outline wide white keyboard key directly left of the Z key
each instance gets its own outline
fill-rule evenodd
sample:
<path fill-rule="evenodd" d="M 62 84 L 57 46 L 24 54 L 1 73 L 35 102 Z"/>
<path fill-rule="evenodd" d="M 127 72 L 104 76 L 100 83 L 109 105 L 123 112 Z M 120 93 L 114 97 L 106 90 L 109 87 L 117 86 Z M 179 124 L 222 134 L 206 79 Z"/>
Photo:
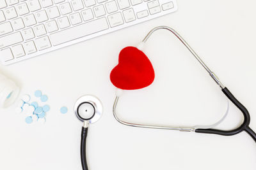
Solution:
<path fill-rule="evenodd" d="M 22 38 L 20 32 L 15 32 L 15 33 L 9 34 L 7 36 L 2 36 L 0 38 L 0 48 L 14 45 L 14 44 L 20 43 L 22 41 L 23 41 L 23 38 Z"/>

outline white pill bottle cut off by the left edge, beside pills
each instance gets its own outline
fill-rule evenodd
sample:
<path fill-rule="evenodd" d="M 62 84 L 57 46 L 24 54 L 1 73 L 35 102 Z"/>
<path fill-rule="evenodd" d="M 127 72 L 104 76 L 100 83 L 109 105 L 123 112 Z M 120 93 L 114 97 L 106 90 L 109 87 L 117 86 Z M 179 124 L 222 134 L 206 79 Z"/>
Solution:
<path fill-rule="evenodd" d="M 19 96 L 20 88 L 14 81 L 0 73 L 0 108 L 12 105 Z"/>

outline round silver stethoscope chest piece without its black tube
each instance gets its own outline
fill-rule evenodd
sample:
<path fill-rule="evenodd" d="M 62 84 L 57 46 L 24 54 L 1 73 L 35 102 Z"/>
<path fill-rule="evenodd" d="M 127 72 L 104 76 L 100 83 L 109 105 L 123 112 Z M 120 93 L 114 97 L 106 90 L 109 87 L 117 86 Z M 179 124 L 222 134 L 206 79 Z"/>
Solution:
<path fill-rule="evenodd" d="M 93 124 L 100 119 L 103 107 L 97 97 L 85 95 L 77 99 L 74 112 L 81 122 L 87 121 L 88 124 Z"/>

